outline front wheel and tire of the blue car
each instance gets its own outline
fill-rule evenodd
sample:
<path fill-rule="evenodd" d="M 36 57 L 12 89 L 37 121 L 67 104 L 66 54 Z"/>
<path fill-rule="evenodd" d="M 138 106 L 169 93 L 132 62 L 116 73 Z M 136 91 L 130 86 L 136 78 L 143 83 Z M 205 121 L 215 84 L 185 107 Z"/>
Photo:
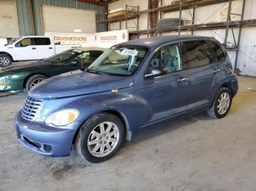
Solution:
<path fill-rule="evenodd" d="M 104 130 L 100 126 L 103 126 Z M 110 133 L 108 133 L 109 127 L 112 127 L 109 129 Z M 111 136 L 111 133 L 114 134 Z M 114 139 L 116 139 L 115 142 L 113 142 Z M 75 139 L 75 149 L 80 157 L 90 163 L 101 163 L 113 157 L 123 142 L 123 122 L 116 115 L 104 112 L 95 114 L 83 123 Z"/>

